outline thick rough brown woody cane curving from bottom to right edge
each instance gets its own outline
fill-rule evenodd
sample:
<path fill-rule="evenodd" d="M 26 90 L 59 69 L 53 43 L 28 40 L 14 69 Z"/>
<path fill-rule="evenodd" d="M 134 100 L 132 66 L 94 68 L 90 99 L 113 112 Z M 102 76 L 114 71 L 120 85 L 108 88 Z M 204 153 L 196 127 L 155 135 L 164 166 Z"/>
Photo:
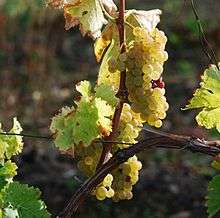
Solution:
<path fill-rule="evenodd" d="M 202 153 L 217 156 L 220 153 L 220 141 L 206 141 L 193 136 L 175 135 L 152 129 L 143 129 L 147 134 L 141 141 L 129 148 L 116 152 L 111 159 L 97 169 L 96 173 L 86 180 L 75 192 L 68 205 L 58 218 L 74 217 L 79 206 L 84 202 L 89 193 L 120 164 L 127 161 L 135 154 L 153 148 L 186 150 L 193 153 Z"/>

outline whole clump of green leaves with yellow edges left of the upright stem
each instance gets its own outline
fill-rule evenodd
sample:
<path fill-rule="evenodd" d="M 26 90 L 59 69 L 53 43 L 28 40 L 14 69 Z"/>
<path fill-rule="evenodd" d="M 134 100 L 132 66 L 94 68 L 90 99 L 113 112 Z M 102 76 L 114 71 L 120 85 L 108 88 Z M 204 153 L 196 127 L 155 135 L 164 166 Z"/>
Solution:
<path fill-rule="evenodd" d="M 114 92 L 106 87 L 109 96 L 101 94 L 94 95 L 91 85 L 82 81 L 77 85 L 77 90 L 82 94 L 79 101 L 75 101 L 75 109 L 63 109 L 55 116 L 51 123 L 51 131 L 55 135 L 55 145 L 62 150 L 73 148 L 74 145 L 83 143 L 89 146 L 91 142 L 111 132 L 111 116 L 113 115 Z M 109 101 L 109 102 L 108 102 Z"/>

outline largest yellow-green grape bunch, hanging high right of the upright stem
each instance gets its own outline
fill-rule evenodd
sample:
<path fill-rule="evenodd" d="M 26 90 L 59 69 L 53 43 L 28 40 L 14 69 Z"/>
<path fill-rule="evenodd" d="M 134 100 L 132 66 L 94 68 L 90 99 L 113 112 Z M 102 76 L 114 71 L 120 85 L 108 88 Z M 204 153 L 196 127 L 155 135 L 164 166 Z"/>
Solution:
<path fill-rule="evenodd" d="M 132 110 L 140 113 L 144 122 L 159 128 L 169 108 L 161 77 L 168 58 L 164 50 L 167 38 L 157 28 L 148 32 L 136 27 L 133 35 L 127 51 L 108 61 L 109 71 L 127 71 L 126 87 Z"/>

